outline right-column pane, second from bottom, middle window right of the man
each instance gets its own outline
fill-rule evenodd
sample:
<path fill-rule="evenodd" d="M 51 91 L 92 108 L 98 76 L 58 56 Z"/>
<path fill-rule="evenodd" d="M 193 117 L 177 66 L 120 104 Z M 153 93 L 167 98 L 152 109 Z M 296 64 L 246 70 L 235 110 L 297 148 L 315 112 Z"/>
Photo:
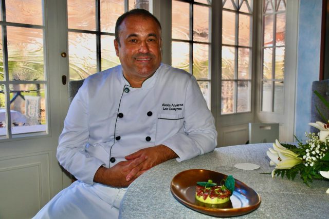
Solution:
<path fill-rule="evenodd" d="M 249 79 L 249 57 L 250 49 L 239 48 L 237 52 L 237 78 L 238 79 Z"/>

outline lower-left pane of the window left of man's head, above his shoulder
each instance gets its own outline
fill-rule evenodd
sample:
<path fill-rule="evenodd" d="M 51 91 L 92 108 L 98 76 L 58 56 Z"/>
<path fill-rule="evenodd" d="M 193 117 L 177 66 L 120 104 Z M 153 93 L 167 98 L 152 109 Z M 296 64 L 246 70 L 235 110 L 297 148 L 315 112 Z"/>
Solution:
<path fill-rule="evenodd" d="M 79 80 L 97 72 L 96 35 L 68 33 L 70 80 Z"/>

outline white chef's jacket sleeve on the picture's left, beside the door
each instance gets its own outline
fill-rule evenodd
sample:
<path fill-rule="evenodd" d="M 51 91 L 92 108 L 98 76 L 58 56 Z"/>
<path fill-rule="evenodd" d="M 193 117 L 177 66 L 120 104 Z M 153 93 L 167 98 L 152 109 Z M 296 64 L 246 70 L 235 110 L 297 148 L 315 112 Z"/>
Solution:
<path fill-rule="evenodd" d="M 67 112 L 59 137 L 57 159 L 78 180 L 92 185 L 94 175 L 103 162 L 85 151 L 89 137 L 87 83 L 85 80 Z"/>

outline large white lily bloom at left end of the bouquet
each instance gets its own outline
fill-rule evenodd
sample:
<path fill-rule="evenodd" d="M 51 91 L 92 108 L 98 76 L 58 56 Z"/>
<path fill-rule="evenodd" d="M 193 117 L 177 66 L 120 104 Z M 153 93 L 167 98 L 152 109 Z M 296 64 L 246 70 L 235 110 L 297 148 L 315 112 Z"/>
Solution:
<path fill-rule="evenodd" d="M 271 160 L 269 165 L 276 165 L 275 169 L 272 171 L 272 177 L 274 177 L 276 169 L 291 169 L 303 162 L 302 158 L 298 157 L 293 151 L 283 147 L 278 140 L 276 140 L 276 143 L 273 143 L 273 149 L 269 148 L 268 151 L 266 151 L 267 156 Z"/>

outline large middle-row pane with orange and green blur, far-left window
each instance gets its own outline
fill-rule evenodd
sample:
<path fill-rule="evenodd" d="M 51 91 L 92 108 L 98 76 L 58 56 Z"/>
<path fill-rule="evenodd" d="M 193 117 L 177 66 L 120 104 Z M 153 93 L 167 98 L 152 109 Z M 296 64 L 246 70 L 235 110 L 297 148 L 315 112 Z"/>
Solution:
<path fill-rule="evenodd" d="M 7 37 L 9 79 L 44 80 L 43 30 L 7 26 Z"/>

